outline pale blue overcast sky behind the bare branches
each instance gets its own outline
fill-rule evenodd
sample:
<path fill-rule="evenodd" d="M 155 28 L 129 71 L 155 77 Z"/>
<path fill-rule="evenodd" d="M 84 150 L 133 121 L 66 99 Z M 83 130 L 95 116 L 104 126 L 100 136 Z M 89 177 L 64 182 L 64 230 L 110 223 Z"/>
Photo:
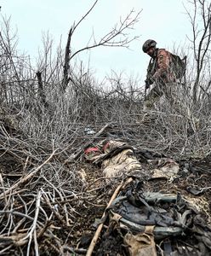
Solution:
<path fill-rule="evenodd" d="M 42 45 L 43 32 L 49 32 L 55 45 L 62 37 L 65 45 L 72 23 L 80 20 L 93 3 L 94 0 L 0 0 L 2 15 L 10 16 L 11 26 L 18 29 L 18 48 L 33 59 Z M 130 50 L 100 47 L 80 55 L 80 59 L 85 63 L 90 59 L 90 67 L 99 79 L 111 74 L 111 70 L 145 79 L 149 56 L 142 52 L 141 47 L 146 39 L 153 38 L 158 47 L 167 49 L 184 45 L 187 41 L 191 26 L 184 4 L 186 1 L 181 0 L 99 0 L 77 28 L 72 46 L 74 49 L 86 46 L 93 31 L 95 38 L 100 38 L 131 9 L 142 10 L 133 31 L 133 35 L 140 38 L 130 44 Z"/>

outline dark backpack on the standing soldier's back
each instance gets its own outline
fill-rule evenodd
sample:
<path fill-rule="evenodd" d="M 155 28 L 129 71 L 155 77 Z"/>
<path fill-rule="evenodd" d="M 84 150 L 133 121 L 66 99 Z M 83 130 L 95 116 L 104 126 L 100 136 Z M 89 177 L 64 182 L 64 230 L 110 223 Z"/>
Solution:
<path fill-rule="evenodd" d="M 181 59 L 180 56 L 171 53 L 171 57 L 172 69 L 176 76 L 176 79 L 182 79 L 185 76 L 187 56 L 185 55 L 185 57 Z"/>

